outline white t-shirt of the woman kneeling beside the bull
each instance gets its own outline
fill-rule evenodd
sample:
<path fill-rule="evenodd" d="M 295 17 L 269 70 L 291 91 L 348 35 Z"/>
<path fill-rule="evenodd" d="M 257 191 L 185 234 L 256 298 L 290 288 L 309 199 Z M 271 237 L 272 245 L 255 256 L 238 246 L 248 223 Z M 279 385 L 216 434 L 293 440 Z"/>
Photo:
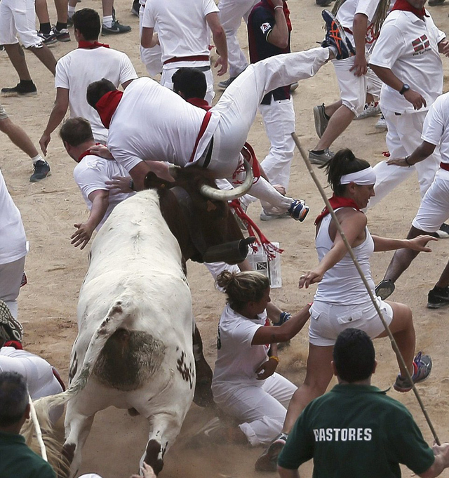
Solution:
<path fill-rule="evenodd" d="M 226 393 L 230 384 L 263 385 L 264 380 L 257 380 L 255 370 L 267 360 L 270 345 L 251 345 L 251 342 L 256 331 L 265 324 L 265 312 L 257 320 L 251 320 L 229 305 L 225 307 L 217 331 L 217 361 L 212 380 L 214 397 Z"/>

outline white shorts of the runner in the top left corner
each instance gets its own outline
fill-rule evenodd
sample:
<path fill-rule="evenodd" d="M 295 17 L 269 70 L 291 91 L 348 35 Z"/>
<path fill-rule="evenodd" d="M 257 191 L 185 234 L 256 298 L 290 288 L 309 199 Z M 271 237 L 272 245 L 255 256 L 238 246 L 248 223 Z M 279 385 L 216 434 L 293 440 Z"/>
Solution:
<path fill-rule="evenodd" d="M 0 45 L 17 44 L 17 35 L 25 48 L 42 46 L 42 39 L 36 32 L 34 0 L 0 2 Z"/>

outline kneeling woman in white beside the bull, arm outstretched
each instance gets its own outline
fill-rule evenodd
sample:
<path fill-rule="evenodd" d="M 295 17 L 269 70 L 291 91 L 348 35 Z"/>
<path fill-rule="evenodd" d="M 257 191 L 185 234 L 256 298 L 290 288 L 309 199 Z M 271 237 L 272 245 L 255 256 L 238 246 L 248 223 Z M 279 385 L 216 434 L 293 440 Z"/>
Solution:
<path fill-rule="evenodd" d="M 225 271 L 217 284 L 225 290 L 227 306 L 218 324 L 214 400 L 241 423 L 237 433 L 241 441 L 267 444 L 281 431 L 286 407 L 297 389 L 276 373 L 277 343 L 302 329 L 309 319 L 309 306 L 283 324 L 270 326 L 265 312 L 270 302 L 267 277 L 259 272 Z"/>

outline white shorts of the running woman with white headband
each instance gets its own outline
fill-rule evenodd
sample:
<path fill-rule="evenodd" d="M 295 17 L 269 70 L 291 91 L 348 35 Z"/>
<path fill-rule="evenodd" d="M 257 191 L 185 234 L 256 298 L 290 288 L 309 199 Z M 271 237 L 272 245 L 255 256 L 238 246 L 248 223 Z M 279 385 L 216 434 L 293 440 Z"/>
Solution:
<path fill-rule="evenodd" d="M 391 305 L 379 297 L 377 305 L 389 325 L 393 319 Z M 371 300 L 360 305 L 334 305 L 316 300 L 310 307 L 309 342 L 312 345 L 333 346 L 338 334 L 350 327 L 365 331 L 370 338 L 385 330 Z"/>

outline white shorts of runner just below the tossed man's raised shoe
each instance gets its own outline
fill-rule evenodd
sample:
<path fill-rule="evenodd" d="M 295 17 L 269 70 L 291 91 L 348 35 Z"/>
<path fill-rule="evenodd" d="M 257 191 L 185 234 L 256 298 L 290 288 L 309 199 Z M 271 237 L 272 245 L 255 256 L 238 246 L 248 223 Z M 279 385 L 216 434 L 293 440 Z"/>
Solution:
<path fill-rule="evenodd" d="M 332 60 L 344 106 L 354 114 L 360 114 L 365 107 L 367 77 L 356 77 L 349 69 L 354 66 L 355 56 L 344 60 Z"/>

